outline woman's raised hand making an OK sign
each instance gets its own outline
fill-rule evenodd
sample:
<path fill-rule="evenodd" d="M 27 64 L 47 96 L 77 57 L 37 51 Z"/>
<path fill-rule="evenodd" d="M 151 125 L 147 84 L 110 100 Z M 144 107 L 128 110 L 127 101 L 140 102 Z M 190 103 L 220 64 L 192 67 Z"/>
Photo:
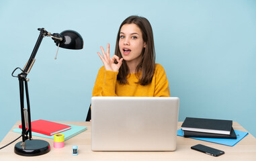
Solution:
<path fill-rule="evenodd" d="M 99 52 L 97 52 L 97 54 L 99 55 L 99 58 L 103 62 L 104 66 L 105 66 L 105 70 L 117 72 L 119 70 L 120 66 L 122 65 L 123 58 L 119 59 L 117 55 L 114 55 L 112 58 L 110 58 L 110 44 L 109 43 L 107 46 L 107 53 L 105 53 L 102 46 L 100 48 L 101 48 L 101 52 L 102 52 L 103 56 L 101 56 L 101 54 Z M 118 64 L 115 64 L 115 60 L 118 62 Z"/>

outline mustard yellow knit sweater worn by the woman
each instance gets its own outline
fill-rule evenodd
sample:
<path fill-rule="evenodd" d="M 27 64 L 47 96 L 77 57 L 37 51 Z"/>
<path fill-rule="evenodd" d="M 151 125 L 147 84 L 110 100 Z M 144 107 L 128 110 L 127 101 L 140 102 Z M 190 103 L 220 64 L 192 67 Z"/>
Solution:
<path fill-rule="evenodd" d="M 137 84 L 136 74 L 128 75 L 127 85 L 121 85 L 117 80 L 118 72 L 99 69 L 93 96 L 119 96 L 119 97 L 170 97 L 169 83 L 165 69 L 161 64 L 156 64 L 152 82 L 148 85 Z"/>

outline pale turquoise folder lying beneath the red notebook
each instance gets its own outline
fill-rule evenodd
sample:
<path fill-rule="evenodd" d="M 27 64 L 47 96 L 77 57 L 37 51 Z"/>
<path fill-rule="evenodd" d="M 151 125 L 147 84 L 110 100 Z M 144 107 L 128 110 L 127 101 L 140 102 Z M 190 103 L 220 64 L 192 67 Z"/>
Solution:
<path fill-rule="evenodd" d="M 67 123 L 62 123 L 62 124 L 70 125 L 70 124 L 67 124 Z M 68 129 L 67 131 L 62 131 L 61 132 L 65 136 L 65 141 L 69 140 L 70 138 L 72 138 L 74 136 L 77 136 L 77 134 L 79 134 L 79 133 L 81 133 L 81 132 L 83 132 L 87 129 L 87 127 L 85 127 L 85 126 L 79 126 L 79 125 L 70 125 L 70 126 L 71 126 L 71 129 Z M 13 132 L 22 133 L 22 129 L 17 127 L 15 129 L 13 129 Z M 52 140 L 53 140 L 53 137 L 54 137 L 54 136 L 46 136 L 42 133 L 36 133 L 36 132 L 33 132 L 33 131 L 32 131 L 32 136 L 39 136 L 39 137 L 43 137 L 43 138 L 49 138 L 49 139 L 52 139 Z"/>

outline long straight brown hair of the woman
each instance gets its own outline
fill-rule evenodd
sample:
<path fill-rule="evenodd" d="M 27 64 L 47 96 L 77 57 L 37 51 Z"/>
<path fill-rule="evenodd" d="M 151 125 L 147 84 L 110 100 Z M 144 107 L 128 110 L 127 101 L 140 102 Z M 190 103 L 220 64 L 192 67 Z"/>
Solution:
<path fill-rule="evenodd" d="M 142 50 L 142 60 L 136 66 L 136 76 L 139 78 L 138 83 L 140 85 L 148 85 L 151 83 L 154 72 L 155 72 L 155 46 L 153 38 L 153 30 L 151 28 L 151 23 L 145 17 L 140 17 L 132 15 L 126 18 L 120 25 L 118 30 L 118 37 L 116 38 L 116 50 L 115 54 L 122 58 L 122 54 L 119 49 L 119 40 L 120 40 L 120 30 L 124 24 L 134 23 L 140 28 L 142 32 L 143 41 L 146 43 L 146 48 Z M 138 72 L 141 71 L 141 74 L 138 75 Z M 118 80 L 121 84 L 127 84 L 127 76 L 130 74 L 129 68 L 126 64 L 126 61 L 123 60 L 122 65 L 119 68 Z"/>

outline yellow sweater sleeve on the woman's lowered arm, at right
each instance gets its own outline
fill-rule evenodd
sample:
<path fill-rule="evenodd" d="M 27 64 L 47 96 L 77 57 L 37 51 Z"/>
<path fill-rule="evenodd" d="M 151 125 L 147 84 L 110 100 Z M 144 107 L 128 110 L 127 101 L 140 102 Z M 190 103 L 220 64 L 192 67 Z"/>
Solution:
<path fill-rule="evenodd" d="M 165 74 L 165 69 L 163 68 L 163 66 L 158 64 L 155 70 L 156 85 L 154 97 L 171 97 L 169 83 L 167 80 L 167 76 Z"/>

